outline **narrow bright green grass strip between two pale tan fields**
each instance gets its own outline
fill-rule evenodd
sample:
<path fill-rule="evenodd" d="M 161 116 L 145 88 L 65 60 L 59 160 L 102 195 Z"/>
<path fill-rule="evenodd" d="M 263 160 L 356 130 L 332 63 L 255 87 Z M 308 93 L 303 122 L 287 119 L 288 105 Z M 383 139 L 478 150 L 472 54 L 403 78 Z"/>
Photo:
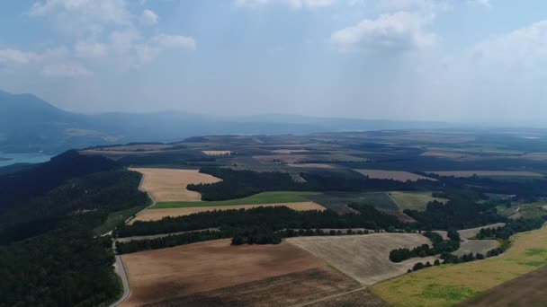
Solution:
<path fill-rule="evenodd" d="M 220 201 L 173 201 L 160 202 L 152 209 L 160 208 L 187 208 L 193 206 L 236 206 L 257 204 L 282 204 L 300 203 L 309 201 L 309 196 L 317 195 L 317 192 L 265 192 L 250 197 L 220 200 Z"/>

